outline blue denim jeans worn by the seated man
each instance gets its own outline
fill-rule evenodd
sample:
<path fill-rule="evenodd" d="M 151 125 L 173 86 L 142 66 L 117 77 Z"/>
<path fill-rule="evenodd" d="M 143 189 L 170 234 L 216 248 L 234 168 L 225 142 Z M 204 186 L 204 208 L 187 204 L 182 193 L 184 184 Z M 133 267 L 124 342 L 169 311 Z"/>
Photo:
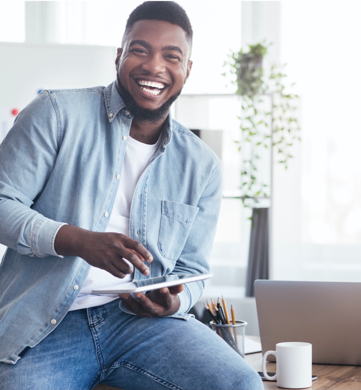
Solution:
<path fill-rule="evenodd" d="M 0 363 L 1 390 L 80 390 L 101 382 L 134 390 L 263 389 L 215 332 L 192 318 L 140 318 L 118 300 L 68 312 L 16 364 Z"/>

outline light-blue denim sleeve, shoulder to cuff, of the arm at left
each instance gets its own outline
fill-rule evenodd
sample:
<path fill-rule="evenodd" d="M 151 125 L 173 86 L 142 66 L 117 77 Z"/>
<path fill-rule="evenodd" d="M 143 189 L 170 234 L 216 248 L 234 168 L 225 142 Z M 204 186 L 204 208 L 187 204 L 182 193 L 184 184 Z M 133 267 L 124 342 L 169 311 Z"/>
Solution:
<path fill-rule="evenodd" d="M 65 223 L 32 209 L 51 175 L 60 142 L 60 122 L 48 91 L 15 120 L 0 145 L 0 243 L 20 254 L 56 255 L 55 236 Z"/>

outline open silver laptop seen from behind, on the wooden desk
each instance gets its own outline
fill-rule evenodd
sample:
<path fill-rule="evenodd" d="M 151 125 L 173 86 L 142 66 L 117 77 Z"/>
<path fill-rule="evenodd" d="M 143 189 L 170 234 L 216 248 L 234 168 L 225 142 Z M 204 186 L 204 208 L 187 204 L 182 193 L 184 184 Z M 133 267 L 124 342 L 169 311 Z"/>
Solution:
<path fill-rule="evenodd" d="M 313 363 L 361 365 L 361 283 L 256 280 L 255 296 L 262 353 L 303 341 Z"/>

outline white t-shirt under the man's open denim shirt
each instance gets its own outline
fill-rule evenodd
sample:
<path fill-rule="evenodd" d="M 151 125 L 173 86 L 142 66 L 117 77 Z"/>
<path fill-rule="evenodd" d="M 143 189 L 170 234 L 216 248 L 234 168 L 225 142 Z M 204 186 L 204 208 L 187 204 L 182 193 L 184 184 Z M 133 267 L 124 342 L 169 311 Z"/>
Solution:
<path fill-rule="evenodd" d="M 140 176 L 142 176 L 150 159 L 154 156 L 161 138 L 159 137 L 158 142 L 154 145 L 143 144 L 134 140 L 134 138 L 128 138 L 117 196 L 113 210 L 111 211 L 108 226 L 105 230 L 106 232 L 122 233 L 129 236 L 129 216 L 134 190 Z M 119 296 L 117 294 L 95 295 L 92 294 L 92 290 L 127 283 L 132 280 L 133 273 L 120 279 L 104 269 L 91 266 L 88 277 L 69 311 L 104 305 L 105 303 L 111 302 L 119 298 Z"/>

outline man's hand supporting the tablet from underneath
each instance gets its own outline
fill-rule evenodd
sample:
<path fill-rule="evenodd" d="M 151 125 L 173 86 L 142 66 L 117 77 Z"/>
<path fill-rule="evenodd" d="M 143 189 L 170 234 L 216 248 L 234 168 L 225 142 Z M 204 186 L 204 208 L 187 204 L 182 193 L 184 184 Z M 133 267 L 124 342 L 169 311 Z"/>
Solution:
<path fill-rule="evenodd" d="M 119 294 L 119 296 L 123 305 L 139 317 L 166 317 L 179 309 L 178 294 L 181 291 L 183 291 L 182 284 L 153 290 L 146 295 L 135 293 L 136 299 L 131 294 Z"/>

